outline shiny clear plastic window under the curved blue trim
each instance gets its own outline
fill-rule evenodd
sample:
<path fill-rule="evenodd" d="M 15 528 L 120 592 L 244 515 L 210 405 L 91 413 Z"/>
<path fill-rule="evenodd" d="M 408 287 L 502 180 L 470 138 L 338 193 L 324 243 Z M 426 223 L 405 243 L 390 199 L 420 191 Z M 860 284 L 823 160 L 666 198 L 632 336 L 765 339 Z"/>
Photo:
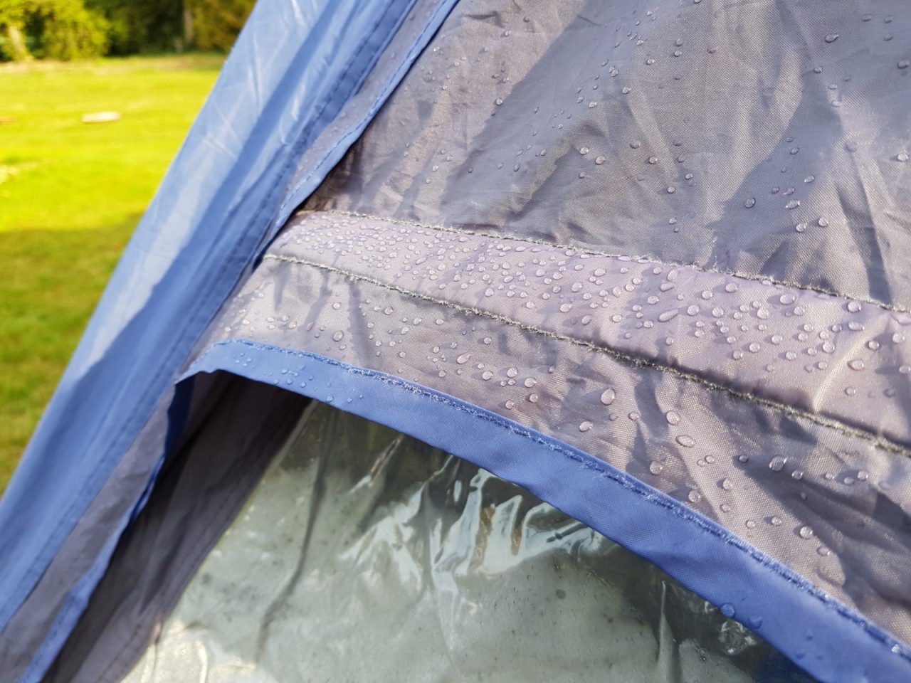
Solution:
<path fill-rule="evenodd" d="M 200 678 L 811 680 L 516 485 L 325 403 L 125 681 Z"/>

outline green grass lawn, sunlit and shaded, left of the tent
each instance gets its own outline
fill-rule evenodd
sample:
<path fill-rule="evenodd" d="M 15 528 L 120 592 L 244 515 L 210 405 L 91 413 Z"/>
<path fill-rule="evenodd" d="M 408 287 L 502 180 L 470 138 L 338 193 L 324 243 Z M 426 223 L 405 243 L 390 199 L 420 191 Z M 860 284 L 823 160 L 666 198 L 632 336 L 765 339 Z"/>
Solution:
<path fill-rule="evenodd" d="M 0 65 L 0 491 L 222 59 Z"/>

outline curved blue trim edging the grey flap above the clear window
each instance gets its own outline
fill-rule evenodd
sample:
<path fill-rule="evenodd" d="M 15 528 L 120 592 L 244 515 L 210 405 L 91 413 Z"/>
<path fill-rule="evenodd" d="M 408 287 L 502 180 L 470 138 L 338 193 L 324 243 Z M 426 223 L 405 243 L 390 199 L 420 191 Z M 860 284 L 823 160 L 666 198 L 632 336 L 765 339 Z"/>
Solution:
<path fill-rule="evenodd" d="M 386 424 L 526 488 L 660 566 L 825 683 L 911 680 L 911 655 L 883 629 L 722 526 L 567 443 L 444 393 L 315 353 L 221 342 L 185 377 L 216 371 Z"/>

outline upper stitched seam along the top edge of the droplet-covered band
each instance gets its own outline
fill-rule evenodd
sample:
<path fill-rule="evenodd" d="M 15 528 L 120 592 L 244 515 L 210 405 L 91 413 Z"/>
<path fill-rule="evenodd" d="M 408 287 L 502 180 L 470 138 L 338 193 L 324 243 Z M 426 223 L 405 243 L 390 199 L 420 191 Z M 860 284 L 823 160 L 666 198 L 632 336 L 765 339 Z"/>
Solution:
<path fill-rule="evenodd" d="M 671 268 L 690 268 L 692 270 L 698 270 L 699 272 L 711 272 L 718 275 L 730 275 L 733 278 L 739 278 L 741 280 L 753 280 L 755 282 L 771 282 L 775 285 L 781 285 L 782 287 L 787 287 L 792 290 L 801 290 L 801 291 L 815 291 L 819 294 L 828 294 L 829 296 L 836 297 L 838 299 L 849 299 L 854 301 L 863 301 L 864 303 L 869 303 L 873 306 L 878 306 L 885 311 L 896 311 L 898 313 L 908 313 L 911 312 L 911 307 L 902 306 L 901 304 L 896 303 L 885 303 L 885 301 L 877 301 L 875 299 L 870 299 L 863 296 L 855 296 L 854 294 L 845 294 L 841 291 L 827 290 L 824 287 L 818 287 L 815 285 L 802 284 L 800 282 L 793 282 L 791 280 L 776 280 L 775 278 L 770 278 L 766 275 L 756 275 L 754 273 L 743 272 L 741 270 L 722 270 L 717 268 L 706 268 L 699 265 L 698 263 L 683 263 L 682 261 L 673 261 L 673 260 L 659 260 L 651 256 L 632 256 L 630 254 L 613 254 L 608 251 L 598 251 L 592 250 L 587 247 L 579 247 L 574 244 L 561 244 L 559 242 L 549 242 L 548 240 L 535 240 L 533 238 L 517 237 L 516 235 L 508 234 L 495 234 L 492 232 L 483 232 L 480 230 L 469 230 L 464 228 L 451 228 L 445 225 L 426 225 L 425 223 L 418 223 L 413 220 L 399 220 L 399 219 L 388 219 L 383 216 L 373 216 L 367 213 L 358 213 L 356 211 L 343 211 L 341 209 L 325 209 L 325 210 L 308 210 L 308 213 L 334 213 L 340 216 L 352 216 L 353 218 L 359 219 L 371 219 L 371 220 L 382 220 L 385 223 L 394 223 L 395 225 L 404 225 L 410 228 L 425 228 L 431 230 L 440 230 L 442 232 L 455 232 L 461 235 L 473 235 L 475 237 L 484 237 L 490 238 L 493 240 L 511 240 L 517 242 L 527 242 L 529 244 L 540 244 L 543 247 L 554 247 L 555 249 L 571 249 L 578 251 L 583 254 L 591 254 L 592 256 L 606 256 L 610 259 L 619 259 L 627 258 L 632 260 L 638 260 L 646 263 L 656 263 L 662 266 L 670 266 Z"/>

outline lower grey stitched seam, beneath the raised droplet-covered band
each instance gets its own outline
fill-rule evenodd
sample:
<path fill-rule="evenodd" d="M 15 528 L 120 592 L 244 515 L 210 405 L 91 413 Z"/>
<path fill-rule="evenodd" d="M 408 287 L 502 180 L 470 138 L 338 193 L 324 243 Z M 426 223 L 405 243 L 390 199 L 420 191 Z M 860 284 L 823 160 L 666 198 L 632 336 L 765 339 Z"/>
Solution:
<path fill-rule="evenodd" d="M 425 294 L 420 294 L 416 291 L 406 290 L 402 287 L 398 287 L 396 285 L 389 284 L 389 283 L 383 282 L 381 280 L 375 280 L 374 278 L 370 278 L 365 275 L 359 275 L 355 272 L 352 272 L 351 270 L 343 270 L 341 268 L 336 268 L 334 266 L 328 266 L 328 265 L 325 265 L 322 263 L 316 263 L 311 260 L 298 259 L 298 258 L 295 258 L 292 256 L 283 256 L 281 254 L 268 253 L 265 256 L 263 256 L 263 259 L 264 260 L 270 259 L 270 260 L 284 261 L 284 262 L 288 262 L 288 263 L 296 263 L 298 265 L 312 266 L 313 268 L 317 268 L 320 270 L 329 270 L 331 272 L 336 272 L 336 273 L 339 273 L 340 275 L 344 275 L 352 280 L 361 280 L 363 282 L 369 282 L 378 287 L 382 287 L 382 288 L 384 288 L 386 290 L 390 290 L 390 291 L 396 291 L 400 294 L 404 294 L 405 296 L 409 296 L 414 299 L 419 299 L 421 301 L 429 301 L 431 303 L 445 306 L 447 308 L 451 308 L 451 309 L 454 309 L 455 311 L 460 311 L 462 313 L 466 313 L 469 315 L 478 315 L 478 316 L 482 316 L 484 318 L 489 318 L 491 320 L 495 320 L 498 322 L 503 322 L 504 324 L 511 325 L 512 327 L 517 327 L 520 330 L 534 332 L 535 334 L 540 334 L 540 335 L 543 335 L 550 339 L 557 340 L 559 342 L 570 342 L 577 346 L 585 347 L 594 352 L 604 353 L 606 355 L 609 355 L 611 358 L 614 358 L 615 360 L 630 363 L 639 368 L 644 367 L 644 368 L 650 368 L 652 370 L 657 370 L 660 372 L 667 372 L 675 377 L 678 377 L 681 380 L 686 380 L 688 382 L 696 382 L 698 384 L 701 384 L 702 386 L 706 387 L 707 389 L 711 389 L 712 391 L 725 392 L 725 393 L 733 396 L 734 398 L 742 399 L 744 401 L 749 401 L 751 403 L 757 403 L 766 408 L 772 408 L 773 410 L 776 410 L 780 413 L 784 413 L 790 417 L 809 420 L 812 423 L 818 424 L 823 427 L 828 427 L 830 429 L 834 429 L 836 432 L 843 433 L 844 435 L 854 436 L 854 437 L 857 437 L 860 439 L 864 439 L 865 441 L 872 443 L 876 448 L 882 449 L 884 451 L 888 451 L 890 453 L 902 454 L 905 456 L 911 456 L 911 451 L 909 451 L 908 449 L 906 449 L 906 447 L 904 447 L 898 443 L 893 443 L 893 442 L 889 441 L 888 439 L 885 439 L 881 436 L 877 436 L 874 433 L 867 432 L 863 429 L 858 429 L 856 427 L 852 427 L 839 420 L 835 420 L 834 418 L 825 417 L 824 415 L 818 415 L 816 413 L 808 413 L 804 410 L 800 410 L 799 408 L 794 408 L 793 406 L 786 405 L 785 403 L 779 403 L 777 401 L 773 401 L 772 399 L 763 398 L 762 396 L 757 396 L 750 392 L 742 392 L 738 389 L 733 389 L 732 387 L 725 386 L 723 384 L 719 384 L 718 382 L 711 382 L 711 380 L 707 380 L 704 377 L 701 377 L 700 375 L 695 374 L 693 372 L 681 371 L 681 370 L 678 370 L 677 368 L 670 367 L 670 365 L 665 365 L 663 363 L 655 362 L 655 361 L 652 361 L 647 358 L 642 358 L 640 356 L 634 356 L 629 353 L 619 352 L 616 349 L 612 349 L 606 345 L 596 344 L 594 342 L 587 342 L 584 340 L 576 339 L 574 337 L 569 337 L 565 334 L 559 334 L 558 332 L 544 330 L 535 325 L 528 325 L 524 322 L 515 321 L 512 318 L 507 318 L 507 316 L 500 315 L 499 313 L 484 311 L 482 309 L 476 309 L 471 306 L 462 306 L 462 305 L 454 303 L 452 301 L 445 301 L 443 299 L 435 299 L 434 297 L 426 296 Z"/>

